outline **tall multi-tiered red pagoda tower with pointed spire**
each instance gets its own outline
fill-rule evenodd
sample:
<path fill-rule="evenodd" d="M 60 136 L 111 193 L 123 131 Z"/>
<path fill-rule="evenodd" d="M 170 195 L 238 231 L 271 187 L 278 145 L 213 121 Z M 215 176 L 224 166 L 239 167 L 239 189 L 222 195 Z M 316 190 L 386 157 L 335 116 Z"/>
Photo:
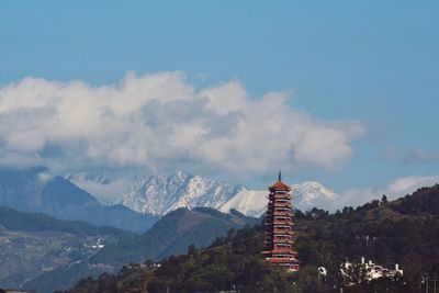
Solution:
<path fill-rule="evenodd" d="M 263 221 L 266 228 L 264 258 L 273 263 L 284 266 L 288 270 L 296 271 L 300 268 L 297 252 L 293 250 L 293 213 L 291 209 L 291 187 L 279 180 L 269 187 L 268 210 Z"/>

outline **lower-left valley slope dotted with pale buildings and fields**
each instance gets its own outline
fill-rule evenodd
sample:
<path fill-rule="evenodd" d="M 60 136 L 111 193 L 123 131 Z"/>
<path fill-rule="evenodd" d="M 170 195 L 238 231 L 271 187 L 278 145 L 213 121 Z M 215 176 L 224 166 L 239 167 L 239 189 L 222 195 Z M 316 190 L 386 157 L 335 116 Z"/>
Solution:
<path fill-rule="evenodd" d="M 87 259 L 102 246 L 133 237 L 113 227 L 0 206 L 0 288 L 20 288 L 47 270 Z"/>

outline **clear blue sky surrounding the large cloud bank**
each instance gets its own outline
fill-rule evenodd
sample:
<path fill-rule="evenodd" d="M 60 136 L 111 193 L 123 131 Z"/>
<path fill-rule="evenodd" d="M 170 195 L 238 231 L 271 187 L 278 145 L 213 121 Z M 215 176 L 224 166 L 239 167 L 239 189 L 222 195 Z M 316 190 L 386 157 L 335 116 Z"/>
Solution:
<path fill-rule="evenodd" d="M 2 1 L 0 87 L 177 70 L 195 89 L 237 80 L 255 100 L 289 92 L 314 121 L 361 123 L 341 167 L 190 171 L 254 188 L 279 168 L 338 192 L 385 185 L 439 174 L 438 12 L 437 1 Z"/>

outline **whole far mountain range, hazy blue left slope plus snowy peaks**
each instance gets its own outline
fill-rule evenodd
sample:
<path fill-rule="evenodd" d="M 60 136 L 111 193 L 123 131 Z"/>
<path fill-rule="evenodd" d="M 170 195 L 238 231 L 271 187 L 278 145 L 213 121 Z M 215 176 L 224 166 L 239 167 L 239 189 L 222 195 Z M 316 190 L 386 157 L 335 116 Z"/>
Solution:
<path fill-rule="evenodd" d="M 293 204 L 306 211 L 331 206 L 337 194 L 318 182 L 292 185 Z M 103 199 L 113 192 L 113 201 Z M 115 195 L 120 194 L 120 195 Z M 85 221 L 144 233 L 162 215 L 179 207 L 236 210 L 259 217 L 268 192 L 240 184 L 176 172 L 155 177 L 112 177 L 105 173 L 55 176 L 46 167 L 0 168 L 0 205 L 41 212 L 60 219 Z"/>

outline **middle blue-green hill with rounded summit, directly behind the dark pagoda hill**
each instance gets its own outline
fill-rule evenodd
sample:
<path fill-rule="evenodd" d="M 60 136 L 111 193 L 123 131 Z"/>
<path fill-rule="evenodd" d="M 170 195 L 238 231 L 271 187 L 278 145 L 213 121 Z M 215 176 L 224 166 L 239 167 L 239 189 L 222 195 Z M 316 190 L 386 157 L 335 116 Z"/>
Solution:
<path fill-rule="evenodd" d="M 216 237 L 225 236 L 230 228 L 255 225 L 259 219 L 233 211 L 223 214 L 212 209 L 178 209 L 159 219 L 144 235 L 108 245 L 98 253 L 72 266 L 59 267 L 25 284 L 42 292 L 67 289 L 77 280 L 95 275 L 99 270 L 115 272 L 123 264 L 161 259 L 188 251 L 190 245 L 209 246 Z M 53 280 L 61 280 L 54 283 Z"/>

